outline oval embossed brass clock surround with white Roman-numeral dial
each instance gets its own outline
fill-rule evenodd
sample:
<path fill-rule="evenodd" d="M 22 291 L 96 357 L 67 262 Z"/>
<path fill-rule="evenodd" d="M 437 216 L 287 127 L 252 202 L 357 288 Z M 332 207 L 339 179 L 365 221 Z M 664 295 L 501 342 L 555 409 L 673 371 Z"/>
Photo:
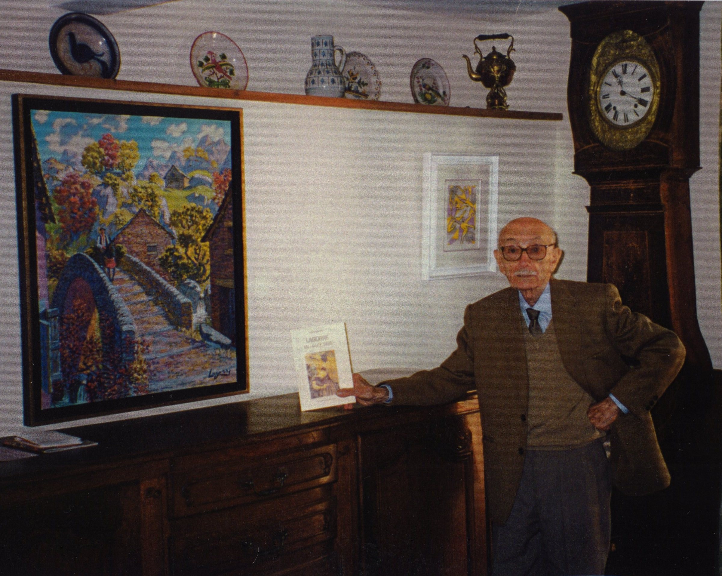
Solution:
<path fill-rule="evenodd" d="M 659 64 L 632 30 L 612 32 L 591 58 L 588 101 L 594 135 L 612 150 L 630 150 L 649 134 L 659 108 Z"/>

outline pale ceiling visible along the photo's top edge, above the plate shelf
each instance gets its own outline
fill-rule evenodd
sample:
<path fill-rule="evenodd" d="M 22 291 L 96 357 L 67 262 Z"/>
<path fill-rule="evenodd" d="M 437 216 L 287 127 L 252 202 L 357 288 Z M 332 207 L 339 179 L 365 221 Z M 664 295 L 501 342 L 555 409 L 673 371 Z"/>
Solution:
<path fill-rule="evenodd" d="M 57 8 L 87 14 L 115 14 L 136 8 L 155 6 L 174 0 L 67 0 L 53 4 Z M 504 22 L 555 10 L 575 0 L 347 0 L 355 4 L 377 6 L 406 12 L 436 14 L 452 18 Z"/>

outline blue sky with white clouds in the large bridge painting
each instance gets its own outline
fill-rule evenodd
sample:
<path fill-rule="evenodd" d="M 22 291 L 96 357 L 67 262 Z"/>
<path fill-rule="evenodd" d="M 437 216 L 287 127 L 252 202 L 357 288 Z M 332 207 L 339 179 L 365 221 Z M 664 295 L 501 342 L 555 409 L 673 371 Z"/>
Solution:
<path fill-rule="evenodd" d="M 206 134 L 212 141 L 222 138 L 230 144 L 230 122 L 227 121 L 51 110 L 31 110 L 30 115 L 43 161 L 51 157 L 60 160 L 65 150 L 82 157 L 88 144 L 107 133 L 118 140 L 135 140 L 138 143 L 140 160 L 136 164 L 136 172 L 143 169 L 149 158 L 168 162 L 173 151 L 183 154 L 184 148 L 196 147 Z"/>

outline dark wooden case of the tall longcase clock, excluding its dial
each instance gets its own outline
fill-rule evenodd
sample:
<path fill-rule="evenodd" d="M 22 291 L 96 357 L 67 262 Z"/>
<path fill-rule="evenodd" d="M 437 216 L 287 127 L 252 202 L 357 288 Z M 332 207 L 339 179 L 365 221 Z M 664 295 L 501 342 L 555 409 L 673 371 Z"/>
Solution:
<path fill-rule="evenodd" d="M 679 334 L 688 361 L 711 371 L 697 324 L 690 185 L 700 169 L 699 12 L 702 2 L 593 1 L 562 6 L 572 22 L 567 102 L 574 170 L 591 187 L 589 282 Z M 588 123 L 589 63 L 616 30 L 643 36 L 661 81 L 657 118 L 635 148 L 616 152 Z"/>

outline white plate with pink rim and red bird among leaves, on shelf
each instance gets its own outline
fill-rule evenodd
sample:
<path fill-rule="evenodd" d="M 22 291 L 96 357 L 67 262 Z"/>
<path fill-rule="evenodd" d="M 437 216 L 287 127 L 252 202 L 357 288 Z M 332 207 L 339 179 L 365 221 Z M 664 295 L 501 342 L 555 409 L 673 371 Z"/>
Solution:
<path fill-rule="evenodd" d="M 220 32 L 203 32 L 191 46 L 191 70 L 206 88 L 245 90 L 248 64 L 238 45 Z"/>

